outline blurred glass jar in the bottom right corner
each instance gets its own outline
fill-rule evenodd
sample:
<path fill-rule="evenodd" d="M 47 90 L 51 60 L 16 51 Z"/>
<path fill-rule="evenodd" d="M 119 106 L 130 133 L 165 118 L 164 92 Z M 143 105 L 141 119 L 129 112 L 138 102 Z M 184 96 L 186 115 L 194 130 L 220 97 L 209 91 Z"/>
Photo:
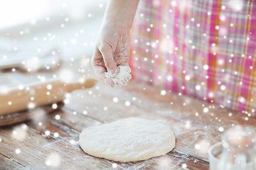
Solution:
<path fill-rule="evenodd" d="M 256 139 L 255 130 L 236 125 L 222 136 L 223 151 L 218 170 L 255 170 Z"/>

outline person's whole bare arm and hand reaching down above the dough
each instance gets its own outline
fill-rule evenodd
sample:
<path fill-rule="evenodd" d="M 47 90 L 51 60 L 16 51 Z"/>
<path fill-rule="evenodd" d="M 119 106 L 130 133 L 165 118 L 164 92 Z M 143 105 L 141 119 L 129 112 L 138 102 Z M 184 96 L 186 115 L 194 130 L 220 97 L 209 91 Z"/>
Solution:
<path fill-rule="evenodd" d="M 129 31 L 138 3 L 139 0 L 108 1 L 103 25 L 92 56 L 92 67 L 100 79 L 110 86 L 114 86 L 111 77 L 116 76 L 117 67 L 128 66 Z M 110 78 L 105 77 L 105 72 L 108 72 Z"/>

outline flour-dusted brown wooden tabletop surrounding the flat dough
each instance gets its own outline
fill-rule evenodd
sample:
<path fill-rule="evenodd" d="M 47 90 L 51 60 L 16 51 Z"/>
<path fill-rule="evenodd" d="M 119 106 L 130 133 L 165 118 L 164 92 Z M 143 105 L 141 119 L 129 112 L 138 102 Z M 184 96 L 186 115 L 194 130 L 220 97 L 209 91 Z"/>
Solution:
<path fill-rule="evenodd" d="M 120 163 L 85 154 L 78 145 L 83 129 L 129 117 L 168 123 L 176 147 L 161 157 Z M 99 82 L 71 93 L 59 111 L 0 128 L 0 169 L 209 169 L 208 148 L 238 124 L 256 129 L 255 118 L 195 98 L 161 95 L 161 89 L 134 81 L 122 88 Z"/>

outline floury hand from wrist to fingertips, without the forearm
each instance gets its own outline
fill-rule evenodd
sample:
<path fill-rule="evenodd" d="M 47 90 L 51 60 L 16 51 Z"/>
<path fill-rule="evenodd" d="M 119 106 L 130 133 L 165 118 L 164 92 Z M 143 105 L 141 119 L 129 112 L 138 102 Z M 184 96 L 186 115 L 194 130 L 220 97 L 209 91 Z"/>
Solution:
<path fill-rule="evenodd" d="M 92 56 L 92 67 L 100 79 L 110 86 L 114 86 L 114 81 L 106 78 L 105 72 L 110 72 L 110 75 L 115 77 L 119 65 L 128 66 L 129 30 L 129 26 L 118 26 L 117 24 L 107 24 L 100 30 Z"/>

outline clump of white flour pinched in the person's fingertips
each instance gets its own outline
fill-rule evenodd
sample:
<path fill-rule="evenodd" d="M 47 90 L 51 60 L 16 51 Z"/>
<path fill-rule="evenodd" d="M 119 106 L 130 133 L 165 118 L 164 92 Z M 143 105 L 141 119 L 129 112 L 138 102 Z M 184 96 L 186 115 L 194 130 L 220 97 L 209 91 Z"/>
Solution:
<path fill-rule="evenodd" d="M 130 74 L 131 68 L 129 66 L 118 66 L 117 75 L 112 77 L 110 72 L 105 72 L 105 77 L 112 79 L 115 85 L 124 86 L 132 78 Z"/>

